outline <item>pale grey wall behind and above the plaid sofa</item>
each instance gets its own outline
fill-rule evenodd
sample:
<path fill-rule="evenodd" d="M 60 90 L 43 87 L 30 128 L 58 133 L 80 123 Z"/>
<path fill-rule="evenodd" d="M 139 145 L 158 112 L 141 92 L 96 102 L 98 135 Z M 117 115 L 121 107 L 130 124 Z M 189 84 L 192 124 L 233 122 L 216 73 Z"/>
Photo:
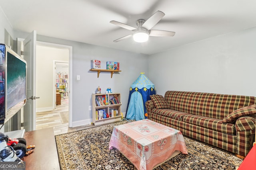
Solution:
<path fill-rule="evenodd" d="M 153 54 L 149 78 L 161 95 L 180 90 L 256 96 L 255 45 L 252 27 Z"/>

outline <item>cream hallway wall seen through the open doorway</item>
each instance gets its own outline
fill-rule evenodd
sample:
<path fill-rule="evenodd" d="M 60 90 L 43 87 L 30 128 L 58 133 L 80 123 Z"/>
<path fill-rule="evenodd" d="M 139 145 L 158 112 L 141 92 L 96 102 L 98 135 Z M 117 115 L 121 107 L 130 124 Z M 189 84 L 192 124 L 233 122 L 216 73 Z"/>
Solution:
<path fill-rule="evenodd" d="M 36 111 L 48 111 L 54 109 L 53 90 L 54 75 L 53 61 L 68 62 L 68 49 L 52 48 L 36 45 Z"/>

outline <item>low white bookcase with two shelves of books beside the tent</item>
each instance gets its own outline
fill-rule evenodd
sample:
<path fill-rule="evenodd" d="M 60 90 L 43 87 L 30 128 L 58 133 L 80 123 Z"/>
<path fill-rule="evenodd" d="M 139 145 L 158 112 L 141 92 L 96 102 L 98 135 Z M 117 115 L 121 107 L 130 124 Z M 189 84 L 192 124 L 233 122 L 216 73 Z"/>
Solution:
<path fill-rule="evenodd" d="M 102 125 L 120 121 L 121 105 L 120 93 L 92 94 L 92 122 Z"/>

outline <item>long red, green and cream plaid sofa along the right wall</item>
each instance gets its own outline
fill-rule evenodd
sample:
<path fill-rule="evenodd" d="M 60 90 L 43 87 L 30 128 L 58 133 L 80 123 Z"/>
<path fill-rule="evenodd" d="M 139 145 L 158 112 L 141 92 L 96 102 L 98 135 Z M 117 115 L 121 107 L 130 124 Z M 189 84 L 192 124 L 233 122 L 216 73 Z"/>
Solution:
<path fill-rule="evenodd" d="M 255 137 L 256 97 L 167 91 L 146 102 L 148 119 L 246 156 Z"/>

